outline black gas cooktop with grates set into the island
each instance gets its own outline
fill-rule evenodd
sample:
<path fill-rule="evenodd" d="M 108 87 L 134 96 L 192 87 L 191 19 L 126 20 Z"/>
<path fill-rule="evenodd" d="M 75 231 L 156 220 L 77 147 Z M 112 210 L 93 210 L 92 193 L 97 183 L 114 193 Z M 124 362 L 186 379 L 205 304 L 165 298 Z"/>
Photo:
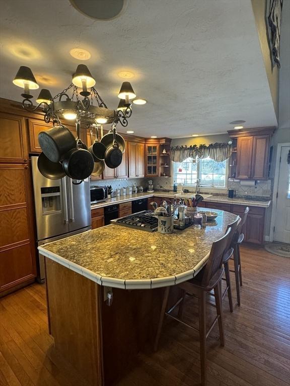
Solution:
<path fill-rule="evenodd" d="M 111 220 L 112 224 L 123 227 L 140 229 L 147 232 L 155 232 L 158 228 L 158 218 L 152 211 L 141 211 L 119 219 Z"/>

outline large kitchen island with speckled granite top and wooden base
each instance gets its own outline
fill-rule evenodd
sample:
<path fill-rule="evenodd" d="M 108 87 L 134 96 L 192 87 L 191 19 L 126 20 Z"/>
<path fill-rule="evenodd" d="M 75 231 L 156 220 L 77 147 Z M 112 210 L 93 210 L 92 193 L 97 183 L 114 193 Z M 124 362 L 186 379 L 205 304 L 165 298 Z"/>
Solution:
<path fill-rule="evenodd" d="M 216 212 L 200 230 L 164 235 L 108 225 L 39 247 L 46 256 L 49 331 L 88 384 L 113 383 L 154 338 L 163 287 L 177 289 L 193 277 L 237 218 Z M 177 295 L 173 290 L 171 302 Z"/>

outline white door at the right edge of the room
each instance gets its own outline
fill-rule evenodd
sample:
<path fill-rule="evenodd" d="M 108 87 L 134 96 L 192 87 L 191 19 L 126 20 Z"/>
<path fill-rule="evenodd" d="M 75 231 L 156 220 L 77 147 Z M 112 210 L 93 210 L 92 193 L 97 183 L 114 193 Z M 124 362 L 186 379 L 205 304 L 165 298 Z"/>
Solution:
<path fill-rule="evenodd" d="M 290 244 L 290 146 L 281 147 L 274 241 Z"/>

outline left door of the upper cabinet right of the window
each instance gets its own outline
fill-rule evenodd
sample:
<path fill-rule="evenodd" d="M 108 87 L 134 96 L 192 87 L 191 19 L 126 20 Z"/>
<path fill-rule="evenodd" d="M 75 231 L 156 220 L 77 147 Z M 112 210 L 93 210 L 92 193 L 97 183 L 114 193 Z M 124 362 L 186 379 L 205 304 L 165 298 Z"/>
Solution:
<path fill-rule="evenodd" d="M 237 176 L 240 179 L 251 178 L 253 137 L 238 137 L 237 141 Z"/>

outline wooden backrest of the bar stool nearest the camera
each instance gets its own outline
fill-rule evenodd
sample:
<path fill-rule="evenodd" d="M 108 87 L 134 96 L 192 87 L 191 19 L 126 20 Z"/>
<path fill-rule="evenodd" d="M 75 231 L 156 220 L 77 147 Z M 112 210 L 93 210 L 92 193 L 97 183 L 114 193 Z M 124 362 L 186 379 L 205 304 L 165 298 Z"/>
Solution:
<path fill-rule="evenodd" d="M 217 241 L 212 243 L 209 257 L 207 263 L 205 265 L 204 274 L 202 277 L 202 286 L 207 286 L 209 284 L 210 279 L 214 276 L 214 274 L 222 268 L 223 265 L 223 256 L 229 242 L 229 237 L 231 234 L 232 228 L 229 228 L 226 234 Z"/>

